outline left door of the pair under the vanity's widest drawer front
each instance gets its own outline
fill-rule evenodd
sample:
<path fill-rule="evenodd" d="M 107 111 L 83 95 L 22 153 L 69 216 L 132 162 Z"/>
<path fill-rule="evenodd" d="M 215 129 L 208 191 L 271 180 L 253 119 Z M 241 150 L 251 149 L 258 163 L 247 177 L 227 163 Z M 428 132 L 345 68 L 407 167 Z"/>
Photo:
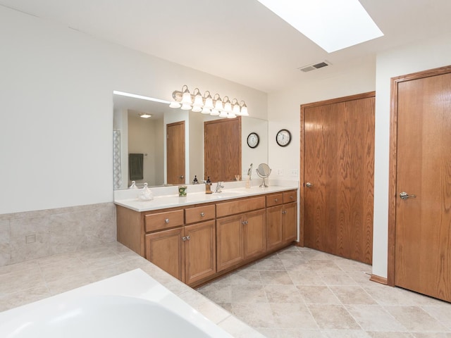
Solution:
<path fill-rule="evenodd" d="M 245 259 L 242 215 L 216 220 L 216 249 L 216 267 L 218 272 Z"/>

